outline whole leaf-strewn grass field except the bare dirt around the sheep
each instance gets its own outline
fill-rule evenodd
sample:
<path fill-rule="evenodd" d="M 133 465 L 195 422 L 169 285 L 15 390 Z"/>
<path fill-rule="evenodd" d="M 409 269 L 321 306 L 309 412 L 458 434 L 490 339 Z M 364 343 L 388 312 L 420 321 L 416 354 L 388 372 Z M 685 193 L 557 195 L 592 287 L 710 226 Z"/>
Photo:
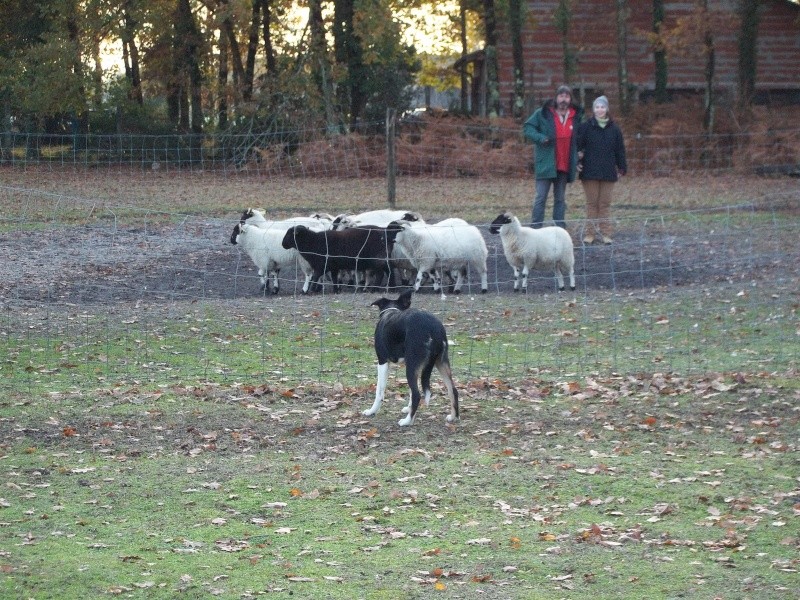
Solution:
<path fill-rule="evenodd" d="M 27 172 L 4 176 L 30 185 Z M 19 215 L 159 225 L 250 205 L 385 203 L 382 181 L 36 176 L 54 195 L 6 193 L 9 229 Z M 740 184 L 628 180 L 615 216 L 761 197 Z M 531 186 L 408 180 L 398 202 L 486 222 L 527 214 Z M 570 194 L 579 218 L 582 193 Z M 793 240 L 785 217 L 763 243 Z M 723 213 L 671 218 L 679 226 L 750 247 Z M 375 313 L 360 295 L 8 305 L 0 597 L 793 599 L 791 273 L 630 293 L 420 295 L 452 338 L 462 419 L 445 424 L 434 376 L 411 429 L 397 426 L 400 369 L 381 413 L 361 415 Z"/>

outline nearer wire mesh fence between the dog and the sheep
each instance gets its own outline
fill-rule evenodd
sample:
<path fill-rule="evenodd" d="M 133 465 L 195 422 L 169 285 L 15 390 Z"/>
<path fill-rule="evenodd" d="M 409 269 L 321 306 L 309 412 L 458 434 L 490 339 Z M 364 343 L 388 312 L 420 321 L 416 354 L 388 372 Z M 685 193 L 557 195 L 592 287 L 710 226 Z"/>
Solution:
<path fill-rule="evenodd" d="M 0 186 L 0 388 L 20 391 L 371 381 L 382 291 L 308 296 L 293 270 L 260 290 L 234 222 Z M 527 294 L 498 236 L 489 292 L 423 288 L 458 378 L 773 371 L 797 366 L 797 193 L 618 219 L 611 246 L 576 243 L 575 292 Z M 581 223 L 576 222 L 577 231 Z"/>

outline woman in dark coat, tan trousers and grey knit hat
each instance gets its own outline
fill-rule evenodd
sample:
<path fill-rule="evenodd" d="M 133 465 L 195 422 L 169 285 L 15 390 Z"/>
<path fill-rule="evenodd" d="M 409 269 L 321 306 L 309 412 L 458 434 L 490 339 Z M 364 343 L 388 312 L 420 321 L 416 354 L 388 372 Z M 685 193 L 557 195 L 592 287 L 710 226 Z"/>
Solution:
<path fill-rule="evenodd" d="M 586 194 L 584 244 L 595 240 L 610 244 L 611 199 L 618 175 L 625 175 L 625 142 L 622 130 L 608 111 L 608 98 L 600 96 L 592 105 L 593 116 L 578 128 L 577 143 L 580 179 Z"/>

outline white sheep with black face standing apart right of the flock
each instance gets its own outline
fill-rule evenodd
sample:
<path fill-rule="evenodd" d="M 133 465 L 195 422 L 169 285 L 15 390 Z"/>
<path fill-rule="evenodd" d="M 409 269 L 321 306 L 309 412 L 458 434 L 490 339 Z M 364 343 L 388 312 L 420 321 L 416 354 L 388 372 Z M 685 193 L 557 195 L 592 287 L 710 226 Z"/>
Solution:
<path fill-rule="evenodd" d="M 533 229 L 523 227 L 510 212 L 492 221 L 489 231 L 499 233 L 503 253 L 514 269 L 514 291 L 519 291 L 522 270 L 522 289 L 528 290 L 528 273 L 533 269 L 554 269 L 559 291 L 564 291 L 564 272 L 569 274 L 569 288 L 575 289 L 575 253 L 572 238 L 561 227 Z"/>

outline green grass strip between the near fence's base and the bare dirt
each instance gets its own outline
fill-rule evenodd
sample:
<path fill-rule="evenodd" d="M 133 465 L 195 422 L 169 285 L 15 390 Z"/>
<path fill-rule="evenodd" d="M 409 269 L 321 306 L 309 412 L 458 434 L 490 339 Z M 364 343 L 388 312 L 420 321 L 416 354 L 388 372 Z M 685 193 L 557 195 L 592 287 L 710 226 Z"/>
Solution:
<path fill-rule="evenodd" d="M 791 295 L 741 290 L 490 295 L 446 305 L 420 296 L 418 302 L 444 319 L 462 377 L 796 367 L 798 345 L 787 335 L 797 324 Z M 366 301 L 283 298 L 234 309 L 208 302 L 173 311 L 178 314 L 165 310 L 172 309 L 6 313 L 0 388 L 43 392 L 184 380 L 333 383 L 374 376 L 374 309 Z"/>

